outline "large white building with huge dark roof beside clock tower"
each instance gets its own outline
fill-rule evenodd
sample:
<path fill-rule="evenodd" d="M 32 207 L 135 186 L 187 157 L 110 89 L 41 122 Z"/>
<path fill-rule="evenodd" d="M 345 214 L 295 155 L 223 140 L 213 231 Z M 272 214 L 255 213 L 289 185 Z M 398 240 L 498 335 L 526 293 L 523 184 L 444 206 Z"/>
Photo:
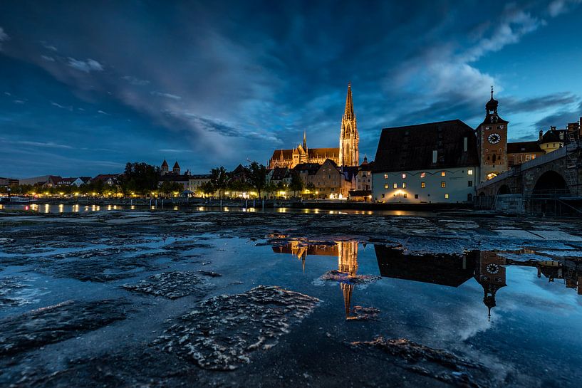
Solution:
<path fill-rule="evenodd" d="M 378 202 L 472 201 L 479 177 L 477 138 L 460 120 L 382 130 L 372 174 Z"/>

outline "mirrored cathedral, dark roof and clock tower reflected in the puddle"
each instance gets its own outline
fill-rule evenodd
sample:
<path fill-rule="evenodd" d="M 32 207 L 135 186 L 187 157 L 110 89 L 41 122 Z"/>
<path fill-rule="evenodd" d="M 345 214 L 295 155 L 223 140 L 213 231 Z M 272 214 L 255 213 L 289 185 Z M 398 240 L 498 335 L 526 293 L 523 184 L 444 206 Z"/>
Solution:
<path fill-rule="evenodd" d="M 351 308 L 355 285 L 365 283 L 372 276 L 358 276 L 358 242 L 310 241 L 306 238 L 286 240 L 285 235 L 271 234 L 273 251 L 288 253 L 302 262 L 303 271 L 308 256 L 336 256 L 338 270 L 326 274 L 327 279 L 337 280 L 343 293 L 345 318 L 353 319 Z M 277 241 L 279 240 L 279 241 Z M 281 241 L 284 240 L 284 241 Z M 538 278 L 549 282 L 563 279 L 567 288 L 577 290 L 582 295 L 582 262 L 560 258 L 559 261 L 513 261 L 495 251 L 470 251 L 464 254 L 407 253 L 404 248 L 375 245 L 380 276 L 422 283 L 432 283 L 457 288 L 474 278 L 483 288 L 483 303 L 487 308 L 487 318 L 497 305 L 497 292 L 507 286 L 506 266 L 535 266 Z"/>

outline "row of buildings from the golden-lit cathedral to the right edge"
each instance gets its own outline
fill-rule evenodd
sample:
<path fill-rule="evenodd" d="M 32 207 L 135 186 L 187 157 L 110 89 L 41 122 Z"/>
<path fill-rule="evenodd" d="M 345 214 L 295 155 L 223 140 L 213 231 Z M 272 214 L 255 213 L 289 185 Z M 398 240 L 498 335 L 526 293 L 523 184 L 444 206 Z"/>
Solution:
<path fill-rule="evenodd" d="M 539 139 L 508 142 L 509 122 L 493 97 L 476 129 L 461 120 L 430 122 L 382 130 L 375 161 L 359 162 L 358 128 L 351 85 L 341 120 L 338 148 L 275 150 L 269 168 L 275 179 L 298 173 L 316 196 L 376 202 L 457 203 L 472 201 L 477 184 L 509 168 L 563 147 L 582 137 L 581 123 L 539 132 Z M 280 178 L 282 177 L 282 178 Z M 313 193 L 311 193 L 313 194 Z"/>

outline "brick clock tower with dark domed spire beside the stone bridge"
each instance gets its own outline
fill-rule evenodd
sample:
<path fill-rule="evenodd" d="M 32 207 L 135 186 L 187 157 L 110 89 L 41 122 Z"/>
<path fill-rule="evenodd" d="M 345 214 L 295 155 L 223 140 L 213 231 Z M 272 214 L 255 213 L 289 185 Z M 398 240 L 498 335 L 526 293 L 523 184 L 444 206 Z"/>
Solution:
<path fill-rule="evenodd" d="M 487 115 L 477 127 L 477 147 L 481 160 L 481 182 L 507 171 L 507 125 L 509 121 L 497 115 L 499 101 L 493 98 L 485 105 Z"/>

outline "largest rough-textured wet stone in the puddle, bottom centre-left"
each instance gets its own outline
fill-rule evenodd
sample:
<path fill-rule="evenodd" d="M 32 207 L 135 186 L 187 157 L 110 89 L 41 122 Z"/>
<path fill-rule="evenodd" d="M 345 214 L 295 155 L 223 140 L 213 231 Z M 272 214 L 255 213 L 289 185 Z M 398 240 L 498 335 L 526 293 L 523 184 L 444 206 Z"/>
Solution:
<path fill-rule="evenodd" d="M 281 335 L 316 308 L 317 298 L 276 286 L 219 295 L 177 318 L 156 342 L 199 367 L 232 370 L 251 353 L 274 347 Z"/>

